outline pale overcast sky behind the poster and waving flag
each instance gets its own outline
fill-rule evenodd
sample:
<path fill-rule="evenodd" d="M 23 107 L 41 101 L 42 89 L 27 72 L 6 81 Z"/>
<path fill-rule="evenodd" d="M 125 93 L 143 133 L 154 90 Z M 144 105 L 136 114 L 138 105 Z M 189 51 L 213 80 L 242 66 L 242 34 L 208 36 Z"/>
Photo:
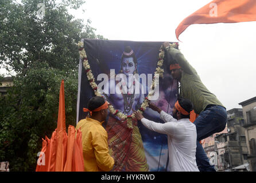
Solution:
<path fill-rule="evenodd" d="M 72 11 L 110 40 L 177 41 L 175 29 L 210 0 L 87 0 Z M 256 22 L 191 25 L 180 50 L 227 110 L 256 96 Z"/>

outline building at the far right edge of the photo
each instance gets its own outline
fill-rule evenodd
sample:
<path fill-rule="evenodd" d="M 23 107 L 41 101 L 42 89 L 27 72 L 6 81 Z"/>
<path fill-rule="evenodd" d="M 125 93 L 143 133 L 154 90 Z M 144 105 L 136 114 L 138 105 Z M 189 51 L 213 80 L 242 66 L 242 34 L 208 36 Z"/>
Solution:
<path fill-rule="evenodd" d="M 242 105 L 245 119 L 243 127 L 245 128 L 246 144 L 249 150 L 250 170 L 256 172 L 256 97 L 243 101 L 239 105 Z"/>

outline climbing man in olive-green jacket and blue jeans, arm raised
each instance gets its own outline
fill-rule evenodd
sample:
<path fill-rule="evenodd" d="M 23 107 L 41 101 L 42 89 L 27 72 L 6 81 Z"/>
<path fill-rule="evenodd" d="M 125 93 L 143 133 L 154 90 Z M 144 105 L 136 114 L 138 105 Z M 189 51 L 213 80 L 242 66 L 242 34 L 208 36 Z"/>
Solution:
<path fill-rule="evenodd" d="M 163 44 L 169 53 L 170 73 L 180 82 L 179 96 L 191 100 L 198 117 L 193 124 L 196 125 L 197 146 L 196 163 L 200 172 L 215 172 L 214 165 L 205 153 L 200 141 L 214 133 L 222 132 L 227 123 L 227 110 L 218 98 L 212 94 L 201 82 L 196 70 L 188 63 L 184 55 L 170 43 Z"/>

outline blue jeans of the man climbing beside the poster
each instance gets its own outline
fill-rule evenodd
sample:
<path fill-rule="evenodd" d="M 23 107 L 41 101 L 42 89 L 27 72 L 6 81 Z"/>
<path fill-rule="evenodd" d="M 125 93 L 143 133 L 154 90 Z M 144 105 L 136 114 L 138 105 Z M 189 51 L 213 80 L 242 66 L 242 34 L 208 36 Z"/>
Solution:
<path fill-rule="evenodd" d="M 214 165 L 210 165 L 200 140 L 214 133 L 222 132 L 227 124 L 227 111 L 222 106 L 210 105 L 199 114 L 193 123 L 196 125 L 196 164 L 200 172 L 215 172 Z"/>

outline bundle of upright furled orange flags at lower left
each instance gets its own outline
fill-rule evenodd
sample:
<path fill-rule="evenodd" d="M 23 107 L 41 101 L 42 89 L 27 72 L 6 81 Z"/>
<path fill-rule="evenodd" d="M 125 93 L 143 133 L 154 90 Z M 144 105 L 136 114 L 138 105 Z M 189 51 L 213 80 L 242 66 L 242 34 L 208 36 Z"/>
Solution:
<path fill-rule="evenodd" d="M 75 137 L 76 133 L 76 137 Z M 42 150 L 37 160 L 36 172 L 84 171 L 82 132 L 69 125 L 65 128 L 64 80 L 61 81 L 57 128 L 51 139 L 42 139 Z"/>

